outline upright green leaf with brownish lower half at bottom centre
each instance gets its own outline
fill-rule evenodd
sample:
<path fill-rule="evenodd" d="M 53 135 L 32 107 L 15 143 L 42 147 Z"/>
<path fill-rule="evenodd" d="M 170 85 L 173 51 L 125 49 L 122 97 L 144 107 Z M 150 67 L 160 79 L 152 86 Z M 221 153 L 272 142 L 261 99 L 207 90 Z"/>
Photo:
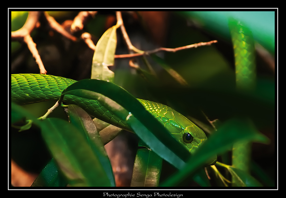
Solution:
<path fill-rule="evenodd" d="M 158 186 L 161 170 L 162 158 L 150 149 L 138 149 L 134 162 L 131 186 Z"/>

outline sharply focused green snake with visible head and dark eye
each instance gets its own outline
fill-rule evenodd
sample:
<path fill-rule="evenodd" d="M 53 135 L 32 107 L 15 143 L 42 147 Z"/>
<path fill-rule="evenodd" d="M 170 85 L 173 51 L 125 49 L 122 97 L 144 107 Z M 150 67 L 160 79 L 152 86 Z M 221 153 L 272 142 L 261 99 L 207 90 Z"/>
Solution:
<path fill-rule="evenodd" d="M 61 92 L 75 82 L 72 79 L 45 74 L 12 74 L 11 101 L 23 105 L 48 100 L 59 100 Z M 198 147 L 207 140 L 205 133 L 198 126 L 174 109 L 157 102 L 142 99 L 138 99 L 138 101 L 190 153 L 196 152 Z M 78 105 L 90 115 L 132 132 L 132 129 L 124 120 L 118 118 L 97 100 L 80 98 L 75 95 L 65 95 L 63 103 Z M 216 162 L 217 156 L 210 159 L 207 165 L 214 165 Z"/>

